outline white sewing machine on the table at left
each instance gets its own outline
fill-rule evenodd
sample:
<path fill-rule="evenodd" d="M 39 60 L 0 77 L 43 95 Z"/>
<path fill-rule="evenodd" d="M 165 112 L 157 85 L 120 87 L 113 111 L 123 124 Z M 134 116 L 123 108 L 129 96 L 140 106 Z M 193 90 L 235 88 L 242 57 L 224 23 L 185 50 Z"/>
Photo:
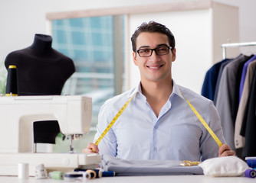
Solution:
<path fill-rule="evenodd" d="M 88 133 L 91 117 L 92 100 L 85 96 L 0 97 L 0 175 L 18 175 L 20 162 L 29 164 L 32 176 L 39 164 L 69 171 L 99 163 L 97 154 L 34 152 L 35 121 L 57 120 L 61 133 L 72 140 Z"/>

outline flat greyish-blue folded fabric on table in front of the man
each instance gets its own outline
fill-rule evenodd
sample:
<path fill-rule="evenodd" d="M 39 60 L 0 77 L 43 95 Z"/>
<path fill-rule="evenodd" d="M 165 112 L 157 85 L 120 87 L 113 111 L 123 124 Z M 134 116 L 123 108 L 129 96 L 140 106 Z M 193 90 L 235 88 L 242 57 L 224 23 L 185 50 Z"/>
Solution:
<path fill-rule="evenodd" d="M 119 176 L 135 175 L 202 175 L 199 165 L 182 166 L 176 160 L 125 160 L 103 155 L 101 169 Z"/>

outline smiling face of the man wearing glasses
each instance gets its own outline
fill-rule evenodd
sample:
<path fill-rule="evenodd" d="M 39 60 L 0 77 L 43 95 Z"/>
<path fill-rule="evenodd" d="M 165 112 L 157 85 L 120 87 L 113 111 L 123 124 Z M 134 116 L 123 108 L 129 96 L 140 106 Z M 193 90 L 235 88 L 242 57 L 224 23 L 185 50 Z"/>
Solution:
<path fill-rule="evenodd" d="M 169 40 L 165 34 L 143 32 L 136 39 L 136 50 L 157 47 L 169 47 Z M 169 50 L 166 55 L 159 56 L 154 50 L 149 57 L 140 57 L 133 52 L 133 62 L 139 67 L 142 82 L 169 82 L 172 79 L 172 62 L 176 59 L 176 49 Z"/>

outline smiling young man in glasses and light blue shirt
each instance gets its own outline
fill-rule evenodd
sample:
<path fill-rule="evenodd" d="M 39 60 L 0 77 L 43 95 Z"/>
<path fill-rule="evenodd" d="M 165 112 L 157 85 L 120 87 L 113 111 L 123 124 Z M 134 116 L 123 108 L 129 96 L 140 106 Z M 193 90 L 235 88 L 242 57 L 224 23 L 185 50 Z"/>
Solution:
<path fill-rule="evenodd" d="M 100 154 L 121 159 L 191 161 L 235 155 L 227 144 L 218 147 L 185 98 L 219 140 L 225 143 L 212 101 L 176 85 L 172 80 L 176 48 L 171 31 L 162 24 L 150 21 L 140 25 L 131 40 L 133 62 L 139 67 L 141 81 L 136 88 L 103 104 L 94 142 L 123 104 L 134 95 L 99 146 L 90 143 L 83 152 L 94 152 L 94 149 Z"/>

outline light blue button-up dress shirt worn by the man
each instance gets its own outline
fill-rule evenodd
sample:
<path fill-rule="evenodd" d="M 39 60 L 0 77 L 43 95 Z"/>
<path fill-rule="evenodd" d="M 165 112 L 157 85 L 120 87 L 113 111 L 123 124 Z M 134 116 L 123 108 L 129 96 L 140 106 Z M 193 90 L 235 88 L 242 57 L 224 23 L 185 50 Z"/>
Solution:
<path fill-rule="evenodd" d="M 220 119 L 212 101 L 173 82 L 172 94 L 156 117 L 140 84 L 107 100 L 100 108 L 94 142 L 135 94 L 98 147 L 100 154 L 121 159 L 203 161 L 218 156 L 218 144 L 195 116 L 185 98 L 201 114 L 222 143 Z"/>

